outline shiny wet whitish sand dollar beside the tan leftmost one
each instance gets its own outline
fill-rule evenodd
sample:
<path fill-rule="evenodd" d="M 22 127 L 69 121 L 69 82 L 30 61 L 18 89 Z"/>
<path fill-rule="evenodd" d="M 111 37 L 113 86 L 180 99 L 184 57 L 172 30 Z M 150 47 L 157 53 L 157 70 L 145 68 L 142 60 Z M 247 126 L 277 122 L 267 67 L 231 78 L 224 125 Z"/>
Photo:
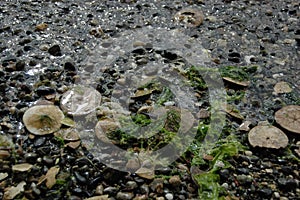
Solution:
<path fill-rule="evenodd" d="M 65 92 L 60 106 L 69 115 L 80 116 L 93 112 L 101 103 L 101 94 L 91 87 L 76 85 Z"/>

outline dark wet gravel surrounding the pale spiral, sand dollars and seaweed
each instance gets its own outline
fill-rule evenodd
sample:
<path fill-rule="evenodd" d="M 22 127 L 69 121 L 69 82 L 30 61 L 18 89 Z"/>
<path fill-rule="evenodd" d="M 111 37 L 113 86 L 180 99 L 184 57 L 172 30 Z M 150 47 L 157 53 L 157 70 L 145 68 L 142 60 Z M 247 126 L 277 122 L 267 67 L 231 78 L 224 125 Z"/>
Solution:
<path fill-rule="evenodd" d="M 300 149 L 299 134 L 285 131 L 289 138 L 286 149 L 251 147 L 247 141 L 249 128 L 261 121 L 277 126 L 277 110 L 284 105 L 300 105 L 299 8 L 296 0 L 1 1 L 0 198 L 198 199 L 188 158 L 177 160 L 166 171 L 155 171 L 154 179 L 141 178 L 107 167 L 87 150 L 89 144 L 77 147 L 53 134 L 36 136 L 22 122 L 25 111 L 36 101 L 59 106 L 60 98 L 74 83 L 89 81 L 81 72 L 93 70 L 86 58 L 92 57 L 99 43 L 109 47 L 108 38 L 151 26 L 179 29 L 201 41 L 199 46 L 210 55 L 206 65 L 211 68 L 259 66 L 245 89 L 245 98 L 234 102 L 242 121 L 247 121 L 247 129 L 234 134 L 247 151 L 229 159 L 232 167 L 218 171 L 222 195 L 233 199 L 299 199 L 300 158 L 295 153 Z M 197 12 L 197 20 L 204 17 L 203 21 L 189 23 L 189 17 L 178 16 L 189 9 Z M 136 45 L 144 45 L 147 51 L 152 48 L 151 44 Z M 130 59 L 136 59 L 137 66 L 158 57 L 171 63 L 180 60 L 168 52 L 145 52 L 133 52 L 136 57 Z M 124 82 L 126 69 L 117 70 L 126 60 L 122 59 L 116 61 L 116 68 L 103 69 L 101 84 L 91 81 L 103 95 L 103 102 L 110 98 L 112 84 Z M 279 82 L 288 84 L 287 93 L 274 92 Z M 176 101 L 165 104 L 173 106 Z M 236 129 L 242 124 L 231 117 L 227 123 Z M 5 137 L 11 144 L 4 142 Z M 113 160 L 109 155 L 103 159 Z M 31 168 L 22 174 L 13 170 L 13 166 L 24 163 Z M 178 167 L 180 164 L 184 167 Z M 53 174 L 47 172 L 55 166 L 59 173 L 50 187 Z"/>

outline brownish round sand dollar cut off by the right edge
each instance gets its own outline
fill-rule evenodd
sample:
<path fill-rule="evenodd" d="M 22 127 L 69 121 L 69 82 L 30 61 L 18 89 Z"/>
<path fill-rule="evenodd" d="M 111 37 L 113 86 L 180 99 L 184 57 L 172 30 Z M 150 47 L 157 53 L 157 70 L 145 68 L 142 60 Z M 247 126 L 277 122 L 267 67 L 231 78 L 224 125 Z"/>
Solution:
<path fill-rule="evenodd" d="M 300 133 L 300 106 L 289 105 L 275 113 L 276 122 L 283 128 Z"/>

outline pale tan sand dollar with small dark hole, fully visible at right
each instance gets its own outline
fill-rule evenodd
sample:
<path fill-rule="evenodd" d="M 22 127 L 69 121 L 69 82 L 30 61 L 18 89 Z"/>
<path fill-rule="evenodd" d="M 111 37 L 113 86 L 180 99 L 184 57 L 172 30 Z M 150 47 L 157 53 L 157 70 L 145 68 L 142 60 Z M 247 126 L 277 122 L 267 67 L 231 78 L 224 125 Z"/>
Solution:
<path fill-rule="evenodd" d="M 279 128 L 271 125 L 259 125 L 252 128 L 248 134 L 248 140 L 253 147 L 285 148 L 288 145 L 288 137 Z"/>

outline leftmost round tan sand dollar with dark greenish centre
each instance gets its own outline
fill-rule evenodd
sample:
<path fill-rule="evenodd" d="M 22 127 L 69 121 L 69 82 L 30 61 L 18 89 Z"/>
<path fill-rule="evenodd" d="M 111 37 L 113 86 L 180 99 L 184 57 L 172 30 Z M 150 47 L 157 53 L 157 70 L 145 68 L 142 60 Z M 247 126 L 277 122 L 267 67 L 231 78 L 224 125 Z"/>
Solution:
<path fill-rule="evenodd" d="M 46 135 L 57 131 L 64 117 L 57 106 L 38 105 L 24 113 L 23 122 L 29 132 L 35 135 Z"/>

